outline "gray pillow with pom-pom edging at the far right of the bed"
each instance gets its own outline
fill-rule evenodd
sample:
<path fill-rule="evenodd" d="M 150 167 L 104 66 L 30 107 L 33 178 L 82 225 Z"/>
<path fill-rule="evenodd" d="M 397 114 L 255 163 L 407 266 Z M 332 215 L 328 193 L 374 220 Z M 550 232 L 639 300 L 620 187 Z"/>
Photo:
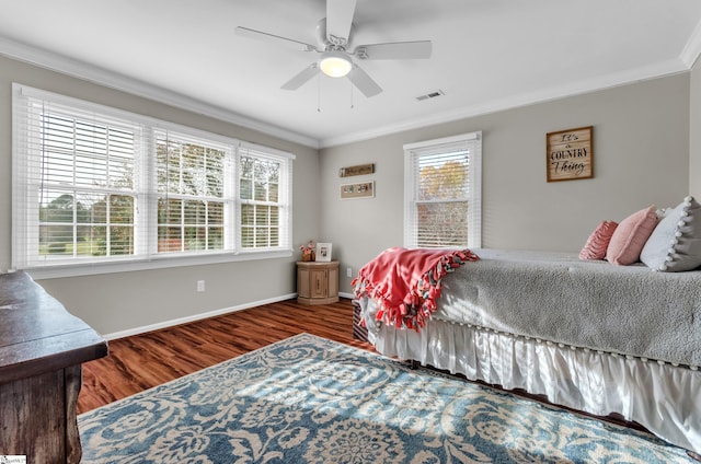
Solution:
<path fill-rule="evenodd" d="M 701 266 L 701 205 L 693 197 L 666 211 L 643 246 L 640 260 L 666 272 Z"/>

